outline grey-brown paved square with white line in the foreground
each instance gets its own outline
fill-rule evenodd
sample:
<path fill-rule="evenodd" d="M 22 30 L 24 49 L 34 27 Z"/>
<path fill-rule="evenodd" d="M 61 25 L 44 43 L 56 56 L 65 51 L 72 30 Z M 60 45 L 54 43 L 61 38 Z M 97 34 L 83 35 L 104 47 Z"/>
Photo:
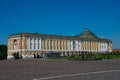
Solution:
<path fill-rule="evenodd" d="M 5 60 L 0 80 L 120 80 L 120 60 Z"/>

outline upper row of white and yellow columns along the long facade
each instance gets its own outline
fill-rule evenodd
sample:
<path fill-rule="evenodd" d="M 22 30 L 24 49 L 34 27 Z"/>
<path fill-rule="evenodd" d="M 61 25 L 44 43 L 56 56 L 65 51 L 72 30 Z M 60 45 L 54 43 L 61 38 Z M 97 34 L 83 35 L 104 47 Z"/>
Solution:
<path fill-rule="evenodd" d="M 28 50 L 41 51 L 109 51 L 108 42 L 32 38 Z"/>

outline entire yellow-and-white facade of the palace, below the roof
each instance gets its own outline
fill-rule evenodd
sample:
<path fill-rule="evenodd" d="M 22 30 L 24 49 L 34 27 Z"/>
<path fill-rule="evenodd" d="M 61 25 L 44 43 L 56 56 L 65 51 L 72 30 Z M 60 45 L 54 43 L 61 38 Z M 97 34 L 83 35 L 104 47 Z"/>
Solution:
<path fill-rule="evenodd" d="M 12 42 L 13 41 L 13 42 Z M 22 43 L 21 43 L 22 42 Z M 9 57 L 14 52 L 19 52 L 23 57 L 39 55 L 44 57 L 45 53 L 60 53 L 61 56 L 79 55 L 85 52 L 111 52 L 112 44 L 104 41 L 67 40 L 67 39 L 43 39 L 27 37 L 9 40 Z M 12 43 L 12 44 L 11 44 Z M 11 48 L 13 46 L 13 48 Z"/>

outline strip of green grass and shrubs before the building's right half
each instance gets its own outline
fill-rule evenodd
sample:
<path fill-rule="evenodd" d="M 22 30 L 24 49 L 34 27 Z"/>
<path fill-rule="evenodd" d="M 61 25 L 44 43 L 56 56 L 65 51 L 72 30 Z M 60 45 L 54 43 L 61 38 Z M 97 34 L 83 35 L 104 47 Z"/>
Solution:
<path fill-rule="evenodd" d="M 117 59 L 120 58 L 120 53 L 99 53 L 99 54 L 81 54 L 71 55 L 68 60 L 102 60 L 102 59 Z"/>

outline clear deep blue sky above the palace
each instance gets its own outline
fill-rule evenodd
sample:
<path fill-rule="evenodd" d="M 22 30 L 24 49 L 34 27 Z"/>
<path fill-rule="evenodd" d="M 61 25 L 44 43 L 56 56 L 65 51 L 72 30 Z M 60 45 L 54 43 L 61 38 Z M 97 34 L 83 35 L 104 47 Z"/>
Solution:
<path fill-rule="evenodd" d="M 0 0 L 0 44 L 18 32 L 77 35 L 84 28 L 120 48 L 120 0 Z"/>

